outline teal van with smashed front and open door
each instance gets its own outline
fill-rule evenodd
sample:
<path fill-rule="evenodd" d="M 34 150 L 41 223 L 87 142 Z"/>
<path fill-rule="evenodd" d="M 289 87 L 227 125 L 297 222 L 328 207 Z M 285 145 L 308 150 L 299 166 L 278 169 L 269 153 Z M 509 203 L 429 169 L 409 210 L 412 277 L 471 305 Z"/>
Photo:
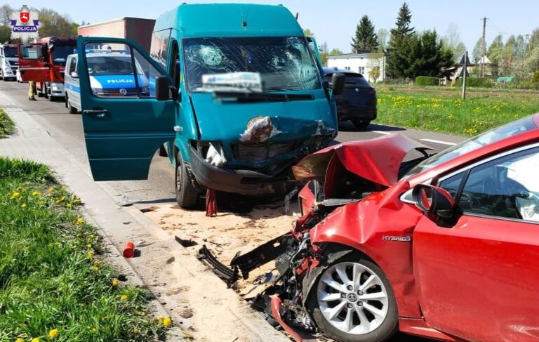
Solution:
<path fill-rule="evenodd" d="M 111 46 L 140 70 L 135 92 L 92 92 L 88 55 Z M 182 4 L 161 15 L 149 54 L 128 39 L 79 37 L 77 66 L 86 149 L 95 180 L 147 179 L 159 149 L 175 166 L 178 204 L 206 188 L 284 192 L 291 166 L 337 135 L 333 95 L 316 42 L 284 6 Z M 124 70 L 124 72 L 126 72 Z"/>

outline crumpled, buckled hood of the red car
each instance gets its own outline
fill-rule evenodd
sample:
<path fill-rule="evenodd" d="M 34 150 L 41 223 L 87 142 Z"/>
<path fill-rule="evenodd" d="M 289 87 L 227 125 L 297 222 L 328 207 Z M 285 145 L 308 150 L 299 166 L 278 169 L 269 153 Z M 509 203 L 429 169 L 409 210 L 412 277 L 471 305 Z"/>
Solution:
<path fill-rule="evenodd" d="M 401 162 L 411 150 L 432 148 L 392 133 L 326 147 L 303 158 L 292 170 L 297 180 L 323 180 L 324 190 L 338 178 L 341 166 L 366 180 L 390 187 L 397 183 Z"/>

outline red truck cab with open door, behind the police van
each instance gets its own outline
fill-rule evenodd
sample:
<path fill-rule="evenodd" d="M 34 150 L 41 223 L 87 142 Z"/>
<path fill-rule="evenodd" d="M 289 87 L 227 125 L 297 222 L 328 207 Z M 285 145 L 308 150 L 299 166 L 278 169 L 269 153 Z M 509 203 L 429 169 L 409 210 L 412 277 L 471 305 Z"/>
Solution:
<path fill-rule="evenodd" d="M 31 44 L 18 44 L 22 80 L 36 82 L 38 96 L 49 100 L 65 97 L 65 61 L 75 50 L 74 37 L 46 37 Z"/>

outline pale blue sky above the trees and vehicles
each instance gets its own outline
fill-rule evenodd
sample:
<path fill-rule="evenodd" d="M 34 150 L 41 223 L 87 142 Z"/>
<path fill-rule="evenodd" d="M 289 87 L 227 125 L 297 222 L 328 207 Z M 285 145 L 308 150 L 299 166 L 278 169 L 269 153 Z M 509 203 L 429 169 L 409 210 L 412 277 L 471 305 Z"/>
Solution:
<path fill-rule="evenodd" d="M 300 25 L 310 29 L 319 44 L 327 42 L 329 48 L 339 48 L 350 52 L 350 41 L 356 25 L 363 15 L 368 15 L 375 25 L 375 30 L 385 28 L 389 31 L 395 26 L 395 20 L 402 0 L 91 0 L 91 1 L 36 1 L 9 0 L 13 8 L 23 4 L 36 8 L 52 8 L 69 15 L 74 22 L 101 22 L 122 17 L 157 18 L 161 13 L 178 6 L 188 4 L 206 4 L 215 2 L 239 2 L 253 4 L 283 4 L 294 15 L 299 13 Z M 436 29 L 442 36 L 451 23 L 458 25 L 460 37 L 472 53 L 474 45 L 481 37 L 486 16 L 486 41 L 490 44 L 494 37 L 502 34 L 504 40 L 511 34 L 531 34 L 539 27 L 537 20 L 539 1 L 537 0 L 408 0 L 412 13 L 412 26 L 416 30 Z"/>

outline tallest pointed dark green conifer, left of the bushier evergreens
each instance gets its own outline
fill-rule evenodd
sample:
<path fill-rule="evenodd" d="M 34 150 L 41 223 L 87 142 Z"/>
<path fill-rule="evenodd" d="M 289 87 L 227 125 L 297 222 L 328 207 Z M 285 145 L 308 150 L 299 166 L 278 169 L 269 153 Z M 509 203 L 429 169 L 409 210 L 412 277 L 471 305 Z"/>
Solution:
<path fill-rule="evenodd" d="M 397 15 L 397 27 L 391 29 L 390 51 L 387 53 L 387 74 L 391 77 L 404 78 L 413 75 L 413 56 L 418 44 L 413 37 L 411 19 L 410 8 L 405 2 Z"/>

